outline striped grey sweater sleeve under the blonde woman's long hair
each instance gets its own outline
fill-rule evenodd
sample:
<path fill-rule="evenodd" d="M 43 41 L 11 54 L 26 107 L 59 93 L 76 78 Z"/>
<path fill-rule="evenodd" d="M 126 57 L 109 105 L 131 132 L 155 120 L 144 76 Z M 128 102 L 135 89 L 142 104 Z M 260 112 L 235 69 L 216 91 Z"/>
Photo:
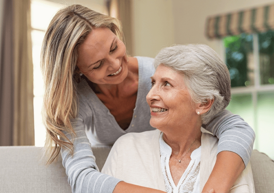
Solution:
<path fill-rule="evenodd" d="M 74 130 L 77 136 L 73 141 L 73 156 L 71 156 L 69 151 L 61 149 L 68 183 L 73 193 L 112 193 L 117 183 L 121 180 L 98 172 L 95 157 L 82 122 L 80 118 L 74 122 Z M 65 135 L 68 139 L 71 139 L 70 135 L 66 133 Z"/>

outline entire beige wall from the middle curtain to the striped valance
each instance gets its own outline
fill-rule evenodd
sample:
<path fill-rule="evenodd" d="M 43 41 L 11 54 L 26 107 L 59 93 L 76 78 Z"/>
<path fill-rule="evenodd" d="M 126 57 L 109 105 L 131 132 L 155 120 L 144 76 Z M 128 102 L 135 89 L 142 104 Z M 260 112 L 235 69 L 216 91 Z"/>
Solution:
<path fill-rule="evenodd" d="M 133 55 L 154 57 L 172 44 L 203 43 L 222 57 L 220 41 L 204 36 L 206 18 L 274 3 L 273 0 L 132 0 Z M 218 8 L 218 9 L 216 9 Z"/>

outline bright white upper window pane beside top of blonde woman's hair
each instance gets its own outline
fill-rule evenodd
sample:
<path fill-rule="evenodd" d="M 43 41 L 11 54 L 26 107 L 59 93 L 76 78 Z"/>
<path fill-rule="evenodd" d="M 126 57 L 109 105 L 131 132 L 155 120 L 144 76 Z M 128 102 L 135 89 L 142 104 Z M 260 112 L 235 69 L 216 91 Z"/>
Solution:
<path fill-rule="evenodd" d="M 45 0 L 31 1 L 31 27 L 33 29 L 46 30 L 55 13 L 64 7 L 59 3 Z"/>

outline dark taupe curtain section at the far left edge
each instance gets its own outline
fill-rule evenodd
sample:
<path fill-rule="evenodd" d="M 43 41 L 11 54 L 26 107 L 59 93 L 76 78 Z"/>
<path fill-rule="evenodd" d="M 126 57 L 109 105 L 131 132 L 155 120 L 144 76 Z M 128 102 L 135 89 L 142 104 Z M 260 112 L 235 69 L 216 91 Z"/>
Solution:
<path fill-rule="evenodd" d="M 13 145 L 13 10 L 5 0 L 1 33 L 0 61 L 0 146 Z"/>

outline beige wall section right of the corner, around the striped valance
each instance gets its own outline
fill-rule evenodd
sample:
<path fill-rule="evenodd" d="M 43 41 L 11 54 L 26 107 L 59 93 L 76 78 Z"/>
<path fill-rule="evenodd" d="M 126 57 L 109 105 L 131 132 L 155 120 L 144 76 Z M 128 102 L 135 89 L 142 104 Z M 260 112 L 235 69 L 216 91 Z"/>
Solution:
<path fill-rule="evenodd" d="M 204 36 L 206 18 L 239 11 L 265 4 L 273 0 L 173 0 L 174 40 L 176 44 L 203 43 L 212 47 L 220 55 L 220 45 Z"/>

